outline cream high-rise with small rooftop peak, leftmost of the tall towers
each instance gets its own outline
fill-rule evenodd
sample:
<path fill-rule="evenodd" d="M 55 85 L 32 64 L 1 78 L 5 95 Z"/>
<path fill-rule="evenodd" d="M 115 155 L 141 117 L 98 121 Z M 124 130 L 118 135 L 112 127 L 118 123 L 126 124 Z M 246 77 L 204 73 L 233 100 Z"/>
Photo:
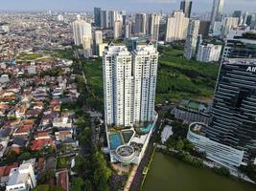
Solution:
<path fill-rule="evenodd" d="M 81 20 L 80 15 L 77 16 L 77 20 L 73 22 L 72 26 L 75 45 L 82 45 L 84 35 L 91 37 L 91 24 Z"/>

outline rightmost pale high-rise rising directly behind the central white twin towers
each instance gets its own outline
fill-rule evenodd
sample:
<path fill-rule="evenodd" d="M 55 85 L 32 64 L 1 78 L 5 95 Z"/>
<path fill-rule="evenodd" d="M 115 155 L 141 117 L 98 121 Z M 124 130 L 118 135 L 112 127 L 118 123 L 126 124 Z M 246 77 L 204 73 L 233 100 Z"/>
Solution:
<path fill-rule="evenodd" d="M 152 13 L 149 15 L 149 34 L 154 41 L 158 41 L 160 20 L 160 14 Z"/>

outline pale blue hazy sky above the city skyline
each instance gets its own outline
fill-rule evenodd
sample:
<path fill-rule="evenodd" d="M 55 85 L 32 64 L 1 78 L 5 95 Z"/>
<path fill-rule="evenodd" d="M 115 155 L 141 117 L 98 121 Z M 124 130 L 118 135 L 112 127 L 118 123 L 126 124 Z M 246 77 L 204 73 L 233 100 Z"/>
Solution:
<path fill-rule="evenodd" d="M 211 11 L 214 0 L 193 0 L 193 12 Z M 224 0 L 224 11 L 256 12 L 256 0 Z M 179 9 L 180 0 L 0 0 L 0 11 L 164 11 Z"/>

